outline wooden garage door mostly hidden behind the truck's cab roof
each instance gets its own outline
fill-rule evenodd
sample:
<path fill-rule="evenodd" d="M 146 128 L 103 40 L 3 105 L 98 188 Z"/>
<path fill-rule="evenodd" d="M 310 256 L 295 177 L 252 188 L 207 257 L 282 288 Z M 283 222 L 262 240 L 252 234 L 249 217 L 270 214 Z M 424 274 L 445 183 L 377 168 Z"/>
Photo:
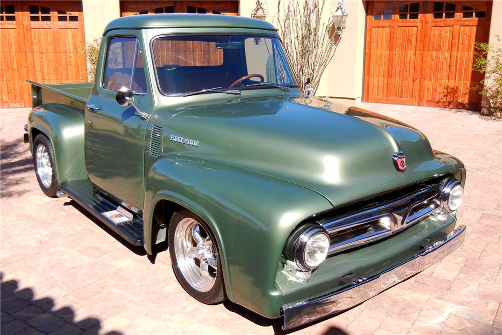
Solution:
<path fill-rule="evenodd" d="M 137 14 L 194 13 L 238 15 L 238 1 L 120 1 L 122 16 Z"/>

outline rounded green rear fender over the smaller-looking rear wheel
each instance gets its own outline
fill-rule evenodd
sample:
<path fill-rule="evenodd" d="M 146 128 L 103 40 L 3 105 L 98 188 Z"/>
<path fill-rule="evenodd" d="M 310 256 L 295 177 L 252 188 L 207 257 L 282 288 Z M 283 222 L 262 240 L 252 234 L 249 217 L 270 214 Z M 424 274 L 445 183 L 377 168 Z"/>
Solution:
<path fill-rule="evenodd" d="M 56 176 L 60 183 L 87 178 L 84 158 L 83 111 L 58 103 L 42 104 L 28 117 L 30 150 L 37 133 L 49 138 L 54 149 Z"/>

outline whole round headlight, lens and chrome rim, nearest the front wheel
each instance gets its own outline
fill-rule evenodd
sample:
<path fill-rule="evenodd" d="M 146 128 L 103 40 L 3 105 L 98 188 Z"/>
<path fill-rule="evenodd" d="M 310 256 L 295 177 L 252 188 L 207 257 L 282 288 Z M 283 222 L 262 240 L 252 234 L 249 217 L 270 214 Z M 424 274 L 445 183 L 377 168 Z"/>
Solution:
<path fill-rule="evenodd" d="M 292 238 L 294 243 L 287 254 L 299 268 L 313 270 L 326 259 L 329 236 L 322 226 L 304 226 L 295 232 Z"/>

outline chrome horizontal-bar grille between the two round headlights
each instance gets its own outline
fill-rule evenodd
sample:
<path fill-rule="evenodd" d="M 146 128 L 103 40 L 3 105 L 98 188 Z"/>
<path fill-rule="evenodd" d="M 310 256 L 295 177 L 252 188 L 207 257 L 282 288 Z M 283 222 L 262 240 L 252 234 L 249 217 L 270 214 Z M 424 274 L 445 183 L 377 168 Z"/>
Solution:
<path fill-rule="evenodd" d="M 440 185 L 432 185 L 381 205 L 319 220 L 327 230 L 330 253 L 383 239 L 410 227 L 440 207 Z"/>

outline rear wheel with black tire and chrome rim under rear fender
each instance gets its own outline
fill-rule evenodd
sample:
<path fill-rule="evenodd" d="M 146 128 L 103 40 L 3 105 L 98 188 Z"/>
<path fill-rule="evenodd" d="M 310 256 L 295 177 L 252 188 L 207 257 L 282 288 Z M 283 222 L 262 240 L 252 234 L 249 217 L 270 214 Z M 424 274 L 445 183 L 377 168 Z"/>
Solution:
<path fill-rule="evenodd" d="M 54 149 L 51 141 L 42 134 L 37 135 L 33 141 L 33 165 L 42 191 L 47 196 L 57 197 L 59 182 L 54 168 Z"/>

